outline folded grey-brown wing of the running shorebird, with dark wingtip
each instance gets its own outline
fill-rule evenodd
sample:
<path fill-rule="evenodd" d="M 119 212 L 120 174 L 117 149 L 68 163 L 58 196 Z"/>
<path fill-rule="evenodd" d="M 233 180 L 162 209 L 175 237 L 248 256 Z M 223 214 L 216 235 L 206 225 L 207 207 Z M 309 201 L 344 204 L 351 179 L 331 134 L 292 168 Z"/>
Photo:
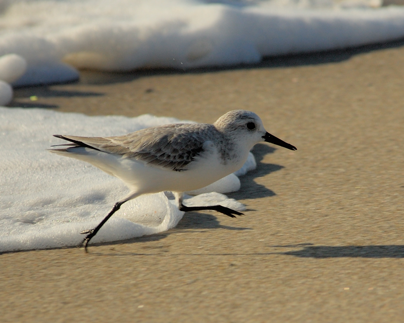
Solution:
<path fill-rule="evenodd" d="M 204 151 L 204 142 L 210 140 L 208 133 L 212 131 L 216 128 L 209 124 L 173 124 L 117 137 L 55 137 L 71 141 L 70 147 L 93 148 L 173 171 L 184 171 Z"/>

